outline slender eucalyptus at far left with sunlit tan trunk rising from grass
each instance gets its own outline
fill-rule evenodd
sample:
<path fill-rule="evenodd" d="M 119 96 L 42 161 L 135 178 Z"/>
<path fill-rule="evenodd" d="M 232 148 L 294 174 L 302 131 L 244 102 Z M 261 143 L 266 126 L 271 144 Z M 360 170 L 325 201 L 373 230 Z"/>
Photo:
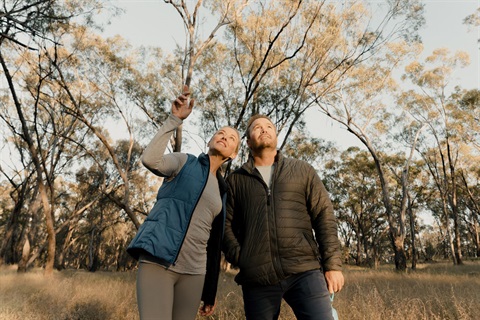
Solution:
<path fill-rule="evenodd" d="M 22 140 L 22 148 L 28 150 L 23 152 L 19 149 L 19 155 L 28 158 L 26 161 L 31 162 L 35 173 L 35 189 L 38 190 L 48 235 L 45 273 L 50 274 L 55 256 L 55 180 L 73 158 L 70 152 L 75 152 L 75 149 L 67 148 L 67 141 L 76 134 L 77 124 L 49 99 L 55 93 L 48 83 L 50 70 L 43 64 L 41 55 L 24 52 L 22 62 L 15 61 L 15 66 L 12 64 L 15 62 L 6 61 L 5 57 L 1 55 L 0 60 L 13 103 L 7 105 L 2 118 L 11 130 L 12 139 Z M 16 69 L 15 74 L 10 73 L 12 68 Z M 36 204 L 34 200 L 32 205 Z M 31 209 L 30 212 L 36 214 L 37 210 Z"/>

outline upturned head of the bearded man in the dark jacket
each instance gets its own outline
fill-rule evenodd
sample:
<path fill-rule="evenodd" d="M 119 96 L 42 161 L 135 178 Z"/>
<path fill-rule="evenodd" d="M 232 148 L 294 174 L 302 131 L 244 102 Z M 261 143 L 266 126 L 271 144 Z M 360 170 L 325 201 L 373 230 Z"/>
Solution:
<path fill-rule="evenodd" d="M 252 151 L 277 148 L 277 130 L 266 118 L 253 121 L 249 129 L 247 144 Z"/>

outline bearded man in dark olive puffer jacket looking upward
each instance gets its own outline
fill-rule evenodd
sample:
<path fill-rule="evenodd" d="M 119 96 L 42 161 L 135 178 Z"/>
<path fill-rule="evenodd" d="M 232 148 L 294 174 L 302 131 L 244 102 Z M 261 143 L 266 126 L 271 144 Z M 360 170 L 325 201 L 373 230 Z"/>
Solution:
<path fill-rule="evenodd" d="M 328 192 L 311 165 L 277 150 L 268 117 L 253 116 L 246 137 L 250 157 L 227 178 L 224 236 L 245 316 L 277 319 L 283 298 L 297 319 L 333 319 L 329 293 L 344 278 Z"/>

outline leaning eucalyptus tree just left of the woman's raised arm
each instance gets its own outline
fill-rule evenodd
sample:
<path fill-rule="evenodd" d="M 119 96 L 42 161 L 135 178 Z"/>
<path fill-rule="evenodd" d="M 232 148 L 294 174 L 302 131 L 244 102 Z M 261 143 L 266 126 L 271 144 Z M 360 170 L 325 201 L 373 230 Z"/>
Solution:
<path fill-rule="evenodd" d="M 134 90 L 132 82 L 140 79 L 136 70 L 138 56 L 121 38 L 104 40 L 79 28 L 72 34 L 70 46 L 57 47 L 50 61 L 54 65 L 55 81 L 66 97 L 62 109 L 80 121 L 99 142 L 94 146 L 109 156 L 118 177 L 116 193 L 110 194 L 110 198 L 138 227 L 130 178 L 137 168 L 136 136 L 143 129 L 141 109 L 136 103 L 141 103 L 145 96 L 137 94 L 131 99 L 128 94 Z M 161 87 L 160 83 L 157 86 Z M 115 150 L 115 141 L 110 136 L 112 129 L 128 141 L 124 155 Z M 82 146 L 95 157 L 92 145 Z"/>

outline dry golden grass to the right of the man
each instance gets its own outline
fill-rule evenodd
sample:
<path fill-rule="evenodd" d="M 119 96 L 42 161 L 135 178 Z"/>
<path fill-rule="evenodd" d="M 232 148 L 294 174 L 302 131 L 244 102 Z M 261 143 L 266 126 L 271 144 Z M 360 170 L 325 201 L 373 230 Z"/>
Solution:
<path fill-rule="evenodd" d="M 335 298 L 342 319 L 478 319 L 480 264 L 423 266 L 409 274 L 350 269 Z"/>

